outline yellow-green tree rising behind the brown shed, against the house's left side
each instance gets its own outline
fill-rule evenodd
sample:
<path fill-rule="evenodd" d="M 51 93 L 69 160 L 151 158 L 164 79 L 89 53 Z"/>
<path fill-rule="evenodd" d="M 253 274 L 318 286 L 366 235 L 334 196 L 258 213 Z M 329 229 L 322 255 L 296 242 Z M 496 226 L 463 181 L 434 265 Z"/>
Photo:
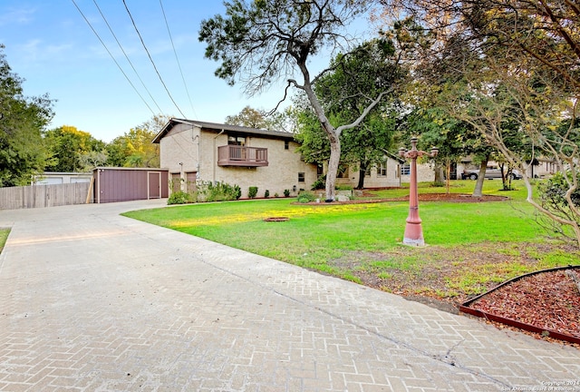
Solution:
<path fill-rule="evenodd" d="M 169 116 L 156 115 L 131 128 L 107 145 L 107 164 L 121 167 L 159 167 L 159 144 L 151 141 L 169 121 Z"/>

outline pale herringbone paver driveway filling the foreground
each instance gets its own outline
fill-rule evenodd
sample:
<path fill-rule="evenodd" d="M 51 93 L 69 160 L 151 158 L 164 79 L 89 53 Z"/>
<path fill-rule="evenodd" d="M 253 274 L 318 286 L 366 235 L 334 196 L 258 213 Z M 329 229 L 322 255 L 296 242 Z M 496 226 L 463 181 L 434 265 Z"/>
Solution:
<path fill-rule="evenodd" d="M 0 390 L 580 391 L 580 349 L 119 215 L 164 204 L 0 211 Z"/>

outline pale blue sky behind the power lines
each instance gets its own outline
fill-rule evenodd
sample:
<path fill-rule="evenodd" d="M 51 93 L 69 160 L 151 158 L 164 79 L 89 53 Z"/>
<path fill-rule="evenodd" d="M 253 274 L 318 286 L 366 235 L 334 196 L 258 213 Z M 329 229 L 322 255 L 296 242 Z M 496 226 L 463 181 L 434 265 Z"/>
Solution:
<path fill-rule="evenodd" d="M 198 43 L 198 29 L 203 19 L 223 12 L 221 1 L 162 0 L 185 84 L 160 1 L 125 1 L 161 78 L 186 117 L 224 122 L 227 115 L 239 113 L 246 105 L 269 110 L 282 97 L 283 92 L 273 88 L 247 98 L 241 86 L 229 87 L 214 76 L 218 64 L 204 58 L 205 46 Z M 122 54 L 95 2 L 147 89 Z M 2 0 L 0 43 L 5 44 L 6 60 L 13 72 L 25 79 L 25 95 L 49 93 L 56 100 L 49 128 L 73 125 L 97 139 L 111 142 L 150 120 L 154 113 L 181 117 L 160 83 L 122 0 L 75 0 L 75 3 L 147 104 L 123 76 L 73 0 Z"/>

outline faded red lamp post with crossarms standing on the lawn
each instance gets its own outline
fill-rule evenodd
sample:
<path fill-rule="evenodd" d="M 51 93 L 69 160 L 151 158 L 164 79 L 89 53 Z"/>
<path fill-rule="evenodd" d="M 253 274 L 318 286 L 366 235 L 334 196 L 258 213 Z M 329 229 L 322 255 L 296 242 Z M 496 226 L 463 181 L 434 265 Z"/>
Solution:
<path fill-rule="evenodd" d="M 439 153 L 437 147 L 431 148 L 431 152 L 417 150 L 417 138 L 411 138 L 411 150 L 407 151 L 404 147 L 399 149 L 399 156 L 411 160 L 411 183 L 409 184 L 409 217 L 405 226 L 405 236 L 402 240 L 404 245 L 424 246 L 423 229 L 420 225 L 419 217 L 419 193 L 417 191 L 417 157 L 427 155 L 436 157 Z"/>

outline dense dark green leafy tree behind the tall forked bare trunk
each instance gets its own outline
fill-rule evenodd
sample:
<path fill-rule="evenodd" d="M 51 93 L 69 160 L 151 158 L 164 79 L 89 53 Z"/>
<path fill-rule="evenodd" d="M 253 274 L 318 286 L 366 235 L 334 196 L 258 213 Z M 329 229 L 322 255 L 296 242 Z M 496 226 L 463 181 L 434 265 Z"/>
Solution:
<path fill-rule="evenodd" d="M 370 98 L 394 91 L 393 85 L 401 83 L 406 72 L 394 58 L 395 48 L 390 40 L 376 39 L 357 47 L 352 53 L 339 54 L 325 73 L 314 84 L 325 113 L 333 124 L 355 122 L 366 111 L 358 126 L 346 129 L 340 135 L 341 161 L 358 166 L 360 175 L 357 188 L 364 187 L 364 177 L 373 165 L 384 161 L 385 152 L 391 148 L 394 132 L 396 101 L 383 100 L 368 110 Z M 305 107 L 303 104 L 302 107 Z M 298 136 L 303 143 L 300 151 L 314 155 L 320 149 L 320 123 L 314 122 L 315 113 L 304 113 Z M 328 139 L 327 139 L 328 140 Z M 315 142 L 315 143 L 313 143 Z M 328 144 L 328 143 L 325 143 Z M 313 148 L 314 147 L 314 148 Z M 324 151 L 329 149 L 324 148 Z M 332 149 L 330 149 L 332 152 Z M 330 157 L 330 156 L 329 156 Z"/>

